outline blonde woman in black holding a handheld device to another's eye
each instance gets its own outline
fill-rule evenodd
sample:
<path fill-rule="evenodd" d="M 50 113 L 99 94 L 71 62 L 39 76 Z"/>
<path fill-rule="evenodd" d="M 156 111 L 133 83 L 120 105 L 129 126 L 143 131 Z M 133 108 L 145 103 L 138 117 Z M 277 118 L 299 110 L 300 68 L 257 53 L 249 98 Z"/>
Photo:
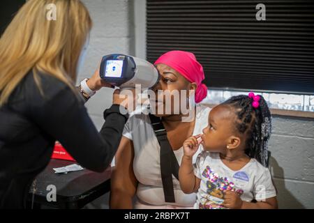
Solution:
<path fill-rule="evenodd" d="M 57 20 L 46 19 L 53 3 Z M 98 132 L 74 84 L 91 18 L 79 0 L 29 0 L 0 39 L 0 208 L 25 208 L 29 186 L 58 140 L 84 167 L 103 171 L 116 153 L 128 115 L 119 91 Z M 98 71 L 81 84 L 89 98 Z"/>

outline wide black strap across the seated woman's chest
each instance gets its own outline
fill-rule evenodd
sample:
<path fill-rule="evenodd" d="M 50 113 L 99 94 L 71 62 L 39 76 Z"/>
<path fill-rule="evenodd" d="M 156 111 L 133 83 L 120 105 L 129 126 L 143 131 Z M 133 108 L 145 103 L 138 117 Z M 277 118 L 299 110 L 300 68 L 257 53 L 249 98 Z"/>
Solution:
<path fill-rule="evenodd" d="M 179 180 L 179 163 L 167 138 L 167 131 L 161 119 L 152 114 L 149 114 L 149 118 L 160 146 L 160 171 L 165 201 L 175 203 L 172 174 Z"/>

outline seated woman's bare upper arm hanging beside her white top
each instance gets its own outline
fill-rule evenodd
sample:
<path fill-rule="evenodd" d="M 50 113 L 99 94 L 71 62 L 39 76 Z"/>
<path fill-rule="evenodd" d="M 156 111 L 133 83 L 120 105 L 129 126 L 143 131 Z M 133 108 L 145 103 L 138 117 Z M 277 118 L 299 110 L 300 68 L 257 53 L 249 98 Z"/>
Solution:
<path fill-rule="evenodd" d="M 137 188 L 133 159 L 133 142 L 122 137 L 111 176 L 110 208 L 133 208 L 132 199 Z"/>

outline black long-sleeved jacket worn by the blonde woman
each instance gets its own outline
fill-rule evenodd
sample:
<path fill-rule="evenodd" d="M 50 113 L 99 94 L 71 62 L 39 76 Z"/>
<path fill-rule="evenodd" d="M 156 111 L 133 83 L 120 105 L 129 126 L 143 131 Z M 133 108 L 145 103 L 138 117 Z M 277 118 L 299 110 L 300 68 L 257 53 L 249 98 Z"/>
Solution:
<path fill-rule="evenodd" d="M 103 171 L 128 119 L 119 113 L 119 105 L 112 105 L 98 132 L 78 91 L 75 95 L 51 75 L 39 76 L 43 95 L 29 72 L 0 107 L 0 208 L 26 207 L 31 183 L 50 161 L 56 140 L 82 166 Z"/>

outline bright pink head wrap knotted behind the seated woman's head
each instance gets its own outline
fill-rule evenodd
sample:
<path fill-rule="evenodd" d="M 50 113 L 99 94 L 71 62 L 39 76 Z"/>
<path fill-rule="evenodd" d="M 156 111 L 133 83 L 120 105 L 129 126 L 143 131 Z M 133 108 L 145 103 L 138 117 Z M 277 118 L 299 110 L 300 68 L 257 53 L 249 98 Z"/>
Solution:
<path fill-rule="evenodd" d="M 201 102 L 207 95 L 207 86 L 202 84 L 205 79 L 204 70 L 197 62 L 194 54 L 185 51 L 174 50 L 161 55 L 154 63 L 163 63 L 170 68 L 177 70 L 189 82 L 195 82 L 197 88 L 195 91 L 195 102 Z"/>

